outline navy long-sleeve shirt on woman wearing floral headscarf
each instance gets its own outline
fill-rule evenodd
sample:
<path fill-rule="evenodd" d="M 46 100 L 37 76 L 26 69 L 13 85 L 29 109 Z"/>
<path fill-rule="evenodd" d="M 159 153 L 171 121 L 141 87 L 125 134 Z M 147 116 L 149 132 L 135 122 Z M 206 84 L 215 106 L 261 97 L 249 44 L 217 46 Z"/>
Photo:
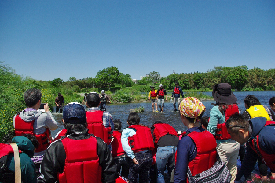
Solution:
<path fill-rule="evenodd" d="M 186 130 L 187 132 L 203 132 L 202 127 L 193 127 Z M 184 136 L 178 142 L 177 163 L 174 174 L 174 183 L 186 182 L 188 162 L 193 160 L 197 155 L 196 144 L 189 136 Z"/>

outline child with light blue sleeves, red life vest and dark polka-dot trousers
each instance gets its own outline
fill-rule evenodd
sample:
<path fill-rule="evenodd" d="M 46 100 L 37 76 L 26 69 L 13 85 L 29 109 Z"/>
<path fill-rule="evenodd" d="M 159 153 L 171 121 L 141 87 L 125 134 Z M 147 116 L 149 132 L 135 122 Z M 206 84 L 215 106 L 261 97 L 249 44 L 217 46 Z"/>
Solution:
<path fill-rule="evenodd" d="M 147 182 L 147 175 L 152 164 L 153 137 L 150 128 L 139 124 L 137 113 L 130 113 L 127 119 L 128 128 L 122 131 L 121 143 L 130 161 L 128 181 Z"/>

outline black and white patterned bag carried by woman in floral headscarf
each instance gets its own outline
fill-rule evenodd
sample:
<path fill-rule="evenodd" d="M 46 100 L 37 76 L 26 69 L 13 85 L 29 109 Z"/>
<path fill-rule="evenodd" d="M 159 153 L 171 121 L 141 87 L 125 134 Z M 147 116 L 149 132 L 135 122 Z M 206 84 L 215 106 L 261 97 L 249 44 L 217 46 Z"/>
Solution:
<path fill-rule="evenodd" d="M 223 162 L 217 154 L 217 162 L 213 167 L 206 171 L 192 176 L 188 167 L 187 178 L 189 183 L 230 183 L 232 175 L 228 170 L 226 163 Z"/>

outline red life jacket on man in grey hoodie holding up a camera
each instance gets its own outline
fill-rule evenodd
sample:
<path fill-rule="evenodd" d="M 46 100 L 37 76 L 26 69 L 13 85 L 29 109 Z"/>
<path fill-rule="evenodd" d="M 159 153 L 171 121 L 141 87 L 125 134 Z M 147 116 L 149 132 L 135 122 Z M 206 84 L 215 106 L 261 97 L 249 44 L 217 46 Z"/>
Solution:
<path fill-rule="evenodd" d="M 35 152 L 41 152 L 46 150 L 50 146 L 50 136 L 49 136 L 49 129 L 46 128 L 46 131 L 42 134 L 36 135 L 33 131 L 33 121 L 24 121 L 17 115 L 14 119 L 14 128 L 15 128 L 15 136 L 21 136 L 26 133 L 30 133 L 31 135 L 35 136 L 36 139 L 39 141 L 39 147 L 35 150 Z"/>

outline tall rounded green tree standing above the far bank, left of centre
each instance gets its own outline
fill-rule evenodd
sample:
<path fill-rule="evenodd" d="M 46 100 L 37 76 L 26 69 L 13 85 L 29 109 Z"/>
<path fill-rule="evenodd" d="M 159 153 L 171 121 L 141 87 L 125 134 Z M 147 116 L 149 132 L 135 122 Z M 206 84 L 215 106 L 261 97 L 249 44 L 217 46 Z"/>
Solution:
<path fill-rule="evenodd" d="M 117 67 L 108 67 L 97 72 L 97 79 L 101 85 L 106 84 L 109 89 L 115 83 L 119 83 L 119 70 Z"/>

